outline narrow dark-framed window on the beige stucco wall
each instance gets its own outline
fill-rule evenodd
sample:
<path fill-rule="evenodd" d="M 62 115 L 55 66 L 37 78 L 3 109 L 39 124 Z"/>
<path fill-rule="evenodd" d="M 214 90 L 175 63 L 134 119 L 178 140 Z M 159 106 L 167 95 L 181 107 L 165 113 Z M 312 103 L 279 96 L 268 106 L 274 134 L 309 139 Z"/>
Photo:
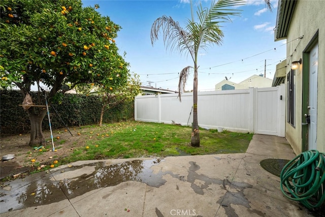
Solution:
<path fill-rule="evenodd" d="M 296 126 L 296 71 L 287 74 L 287 122 Z"/>

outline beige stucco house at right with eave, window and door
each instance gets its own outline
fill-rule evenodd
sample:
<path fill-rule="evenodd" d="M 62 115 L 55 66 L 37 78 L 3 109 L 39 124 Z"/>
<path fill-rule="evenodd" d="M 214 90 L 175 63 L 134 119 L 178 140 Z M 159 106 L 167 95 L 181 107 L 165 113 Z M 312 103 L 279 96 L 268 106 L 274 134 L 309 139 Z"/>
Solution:
<path fill-rule="evenodd" d="M 279 0 L 275 41 L 286 39 L 285 137 L 296 154 L 325 152 L 325 13 L 324 1 Z M 281 63 L 282 64 L 282 63 Z M 280 75 L 282 74 L 282 76 Z M 307 124 L 308 122 L 308 124 Z"/>

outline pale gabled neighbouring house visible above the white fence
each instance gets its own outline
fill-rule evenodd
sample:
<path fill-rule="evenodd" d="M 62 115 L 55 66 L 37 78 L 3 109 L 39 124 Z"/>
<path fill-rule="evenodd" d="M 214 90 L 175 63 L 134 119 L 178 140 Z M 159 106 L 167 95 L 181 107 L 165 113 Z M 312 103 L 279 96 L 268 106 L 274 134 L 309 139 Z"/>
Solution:
<path fill-rule="evenodd" d="M 265 78 L 261 75 L 253 75 L 243 80 L 240 83 L 235 83 L 230 80 L 222 80 L 215 85 L 215 90 L 228 89 L 248 89 L 249 87 L 271 87 L 272 79 Z"/>

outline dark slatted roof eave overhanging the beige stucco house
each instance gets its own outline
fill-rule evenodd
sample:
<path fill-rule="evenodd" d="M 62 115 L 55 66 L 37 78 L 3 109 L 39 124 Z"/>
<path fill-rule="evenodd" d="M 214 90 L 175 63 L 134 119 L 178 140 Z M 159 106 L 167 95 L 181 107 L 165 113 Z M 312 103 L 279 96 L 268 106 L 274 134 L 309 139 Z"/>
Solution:
<path fill-rule="evenodd" d="M 274 41 L 286 38 L 297 0 L 279 0 L 274 31 Z"/>

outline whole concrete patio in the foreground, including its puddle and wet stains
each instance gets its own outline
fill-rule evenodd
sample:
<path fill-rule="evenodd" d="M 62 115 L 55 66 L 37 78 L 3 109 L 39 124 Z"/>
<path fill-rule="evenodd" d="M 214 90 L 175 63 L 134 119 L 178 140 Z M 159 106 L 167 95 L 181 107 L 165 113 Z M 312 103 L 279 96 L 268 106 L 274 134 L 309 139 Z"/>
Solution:
<path fill-rule="evenodd" d="M 1 188 L 1 216 L 313 216 L 259 162 L 291 160 L 285 138 L 245 153 L 75 162 Z"/>

